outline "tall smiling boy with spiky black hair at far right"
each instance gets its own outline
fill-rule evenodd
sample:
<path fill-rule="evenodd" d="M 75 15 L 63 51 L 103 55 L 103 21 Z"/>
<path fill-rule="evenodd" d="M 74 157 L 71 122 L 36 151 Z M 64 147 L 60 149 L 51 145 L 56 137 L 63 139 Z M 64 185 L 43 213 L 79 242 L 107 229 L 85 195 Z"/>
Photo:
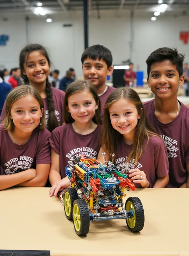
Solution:
<path fill-rule="evenodd" d="M 147 83 L 155 99 L 144 106 L 168 150 L 169 188 L 189 187 L 189 108 L 177 99 L 178 87 L 184 82 L 184 58 L 177 49 L 163 47 L 146 61 Z"/>

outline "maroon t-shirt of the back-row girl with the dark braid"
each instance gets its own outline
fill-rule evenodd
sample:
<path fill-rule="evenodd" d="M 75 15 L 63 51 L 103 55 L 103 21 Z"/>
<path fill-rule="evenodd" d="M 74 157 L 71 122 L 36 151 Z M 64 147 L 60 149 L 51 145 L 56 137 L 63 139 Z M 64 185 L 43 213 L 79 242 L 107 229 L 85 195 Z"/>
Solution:
<path fill-rule="evenodd" d="M 51 89 L 52 89 L 54 106 L 55 106 L 55 115 L 57 117 L 58 124 L 62 125 L 62 122 L 64 121 L 63 106 L 64 106 L 65 92 L 63 92 L 62 90 L 56 89 L 54 87 L 52 87 Z M 48 113 L 49 111 L 48 111 L 48 107 L 47 107 L 47 98 L 42 99 L 42 100 L 43 100 L 44 107 L 45 107 L 45 116 L 46 116 L 46 123 L 47 123 L 48 122 L 48 117 L 49 117 L 49 113 Z M 5 112 L 5 104 L 4 104 L 2 112 L 1 112 L 0 122 L 3 121 L 4 112 Z"/>

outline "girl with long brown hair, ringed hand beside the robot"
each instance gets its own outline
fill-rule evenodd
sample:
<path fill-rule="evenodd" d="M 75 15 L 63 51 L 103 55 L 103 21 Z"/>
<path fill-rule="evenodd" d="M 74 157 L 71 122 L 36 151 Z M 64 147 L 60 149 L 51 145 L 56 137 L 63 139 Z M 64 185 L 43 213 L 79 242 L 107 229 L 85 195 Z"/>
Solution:
<path fill-rule="evenodd" d="M 149 123 L 138 94 L 113 91 L 104 106 L 102 147 L 98 159 L 113 161 L 137 188 L 164 188 L 169 176 L 165 143 Z"/>

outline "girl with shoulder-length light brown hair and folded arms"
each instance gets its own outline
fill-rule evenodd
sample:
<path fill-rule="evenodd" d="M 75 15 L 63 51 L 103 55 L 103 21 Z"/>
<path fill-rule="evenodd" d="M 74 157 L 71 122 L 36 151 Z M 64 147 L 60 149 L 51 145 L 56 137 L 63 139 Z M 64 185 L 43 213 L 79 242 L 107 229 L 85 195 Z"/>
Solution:
<path fill-rule="evenodd" d="M 8 94 L 0 124 L 0 190 L 45 186 L 50 170 L 45 126 L 44 103 L 34 87 L 21 85 Z"/>

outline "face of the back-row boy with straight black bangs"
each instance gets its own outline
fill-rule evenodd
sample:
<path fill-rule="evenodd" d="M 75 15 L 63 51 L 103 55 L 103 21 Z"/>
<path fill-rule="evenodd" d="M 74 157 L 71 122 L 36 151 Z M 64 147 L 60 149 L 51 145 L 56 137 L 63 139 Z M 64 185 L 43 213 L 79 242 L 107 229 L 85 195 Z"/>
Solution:
<path fill-rule="evenodd" d="M 90 58 L 84 60 L 82 69 L 84 78 L 90 80 L 97 89 L 105 84 L 107 76 L 113 71 L 113 67 L 108 68 L 104 60 Z"/>

